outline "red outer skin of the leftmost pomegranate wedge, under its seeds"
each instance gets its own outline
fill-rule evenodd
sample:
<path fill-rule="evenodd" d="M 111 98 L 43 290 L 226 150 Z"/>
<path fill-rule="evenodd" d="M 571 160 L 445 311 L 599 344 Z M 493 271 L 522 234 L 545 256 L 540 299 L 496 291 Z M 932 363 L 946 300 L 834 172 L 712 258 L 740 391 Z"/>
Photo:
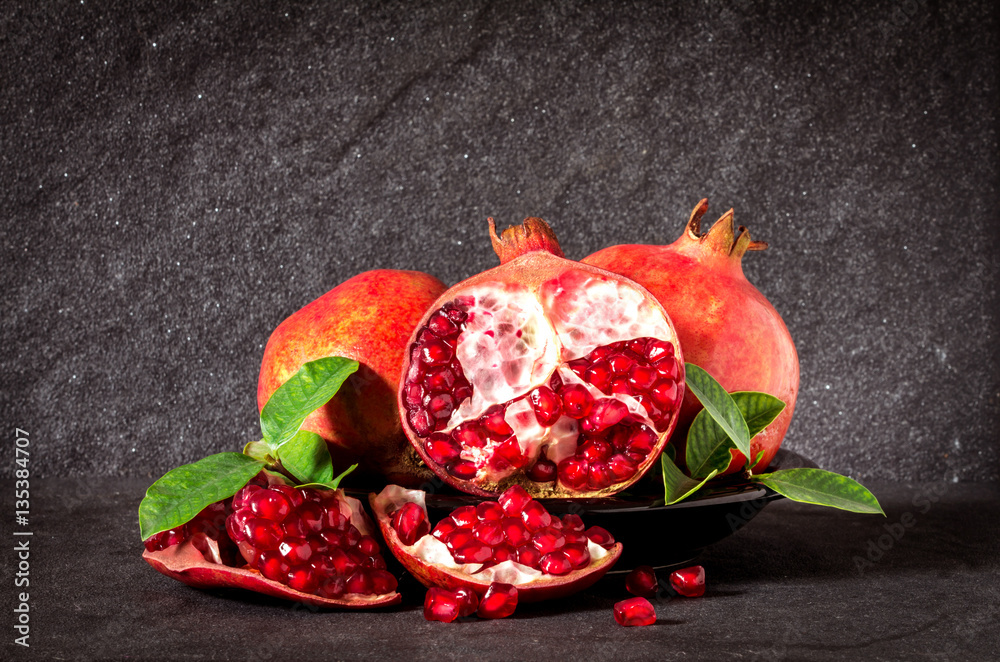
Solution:
<path fill-rule="evenodd" d="M 190 542 L 158 552 L 146 551 L 142 558 L 158 572 L 194 588 L 243 588 L 284 600 L 342 609 L 387 607 L 399 604 L 402 600 L 402 596 L 395 591 L 386 595 L 350 595 L 339 599 L 302 593 L 270 580 L 256 570 L 233 568 L 206 561 Z"/>

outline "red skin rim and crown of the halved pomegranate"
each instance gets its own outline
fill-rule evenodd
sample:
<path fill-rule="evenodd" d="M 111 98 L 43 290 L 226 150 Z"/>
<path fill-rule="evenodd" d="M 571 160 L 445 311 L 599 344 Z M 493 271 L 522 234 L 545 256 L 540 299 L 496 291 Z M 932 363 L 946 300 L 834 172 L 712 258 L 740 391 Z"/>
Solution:
<path fill-rule="evenodd" d="M 555 235 L 542 219 L 528 218 L 524 221 L 523 225 L 514 226 L 505 230 L 501 237 L 497 237 L 494 231 L 493 219 L 490 219 L 490 235 L 493 240 L 493 249 L 500 258 L 500 266 L 467 278 L 461 283 L 452 286 L 444 294 L 438 297 L 437 301 L 427 308 L 427 313 L 423 316 L 423 318 L 413 327 L 413 334 L 407 345 L 416 342 L 418 332 L 424 327 L 424 325 L 427 324 L 427 320 L 430 318 L 432 313 L 436 312 L 444 304 L 452 301 L 459 294 L 479 284 L 498 281 L 505 283 L 519 283 L 537 295 L 541 286 L 545 282 L 567 274 L 572 270 L 594 274 L 604 278 L 610 278 L 619 282 L 624 281 L 636 287 L 636 289 L 644 291 L 641 284 L 637 285 L 628 278 L 622 278 L 620 274 L 564 258 L 562 249 L 559 247 L 559 243 L 556 240 Z M 654 299 L 655 303 L 655 298 L 651 294 L 648 294 L 648 296 L 650 299 Z M 662 306 L 659 306 L 659 308 L 662 310 Z M 666 319 L 671 332 L 674 332 L 674 327 L 671 324 L 671 318 L 665 311 L 664 318 Z M 671 340 L 676 338 L 675 332 L 674 336 L 675 337 L 671 338 Z M 683 384 L 683 366 L 685 358 L 681 352 L 681 348 L 677 346 L 678 343 L 673 344 L 675 356 L 681 366 L 682 377 L 678 380 L 678 388 L 681 388 L 681 385 Z M 403 366 L 402 374 L 406 374 L 405 371 L 408 367 L 409 361 L 406 361 Z M 578 492 L 571 492 L 561 487 L 556 487 L 542 492 L 539 490 L 536 483 L 528 480 L 522 473 L 515 474 L 513 477 L 506 479 L 499 485 L 481 485 L 471 480 L 462 480 L 452 476 L 448 473 L 447 469 L 439 466 L 430 458 L 427 451 L 424 449 L 420 436 L 413 431 L 409 422 L 406 421 L 406 405 L 404 398 L 405 394 L 403 393 L 402 384 L 400 384 L 400 388 L 397 391 L 399 418 L 403 422 L 403 430 L 406 432 L 407 437 L 409 437 L 414 450 L 420 454 L 420 457 L 423 458 L 426 465 L 430 467 L 431 470 L 434 471 L 439 478 L 441 478 L 441 480 L 463 492 L 468 494 L 477 494 L 480 496 L 496 496 L 513 483 L 523 485 L 528 492 L 536 498 L 585 498 L 602 497 L 615 494 L 628 488 L 630 485 L 642 478 L 650 470 L 650 468 L 659 464 L 660 452 L 667 445 L 670 434 L 679 420 L 679 417 L 676 414 L 671 418 L 666 431 L 660 434 L 657 438 L 655 448 L 650 452 L 646 460 L 639 465 L 639 468 L 636 470 L 636 473 L 632 478 L 620 483 L 615 483 L 602 490 L 581 490 Z"/>

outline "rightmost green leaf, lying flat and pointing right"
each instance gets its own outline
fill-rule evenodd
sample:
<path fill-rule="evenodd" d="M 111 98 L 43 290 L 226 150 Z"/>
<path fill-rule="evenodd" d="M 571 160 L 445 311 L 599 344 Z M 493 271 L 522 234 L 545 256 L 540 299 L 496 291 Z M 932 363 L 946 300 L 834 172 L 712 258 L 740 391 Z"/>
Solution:
<path fill-rule="evenodd" d="M 878 499 L 861 483 L 823 469 L 781 469 L 753 480 L 792 501 L 830 506 L 855 513 L 881 513 Z"/>

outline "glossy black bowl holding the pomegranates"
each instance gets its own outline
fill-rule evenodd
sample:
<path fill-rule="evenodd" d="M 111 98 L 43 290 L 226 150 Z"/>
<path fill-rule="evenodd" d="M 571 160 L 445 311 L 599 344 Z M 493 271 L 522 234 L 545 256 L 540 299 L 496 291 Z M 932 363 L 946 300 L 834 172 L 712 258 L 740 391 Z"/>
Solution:
<path fill-rule="evenodd" d="M 799 467 L 815 468 L 816 464 L 781 449 L 768 470 Z M 743 528 L 768 503 L 781 498 L 773 490 L 737 477 L 720 480 L 670 506 L 663 505 L 662 494 L 546 499 L 544 503 L 549 512 L 576 513 L 587 526 L 602 526 L 610 531 L 624 548 L 612 572 L 623 573 L 637 565 L 686 565 L 706 547 Z M 431 521 L 437 522 L 455 508 L 481 500 L 465 494 L 429 493 L 426 501 Z"/>

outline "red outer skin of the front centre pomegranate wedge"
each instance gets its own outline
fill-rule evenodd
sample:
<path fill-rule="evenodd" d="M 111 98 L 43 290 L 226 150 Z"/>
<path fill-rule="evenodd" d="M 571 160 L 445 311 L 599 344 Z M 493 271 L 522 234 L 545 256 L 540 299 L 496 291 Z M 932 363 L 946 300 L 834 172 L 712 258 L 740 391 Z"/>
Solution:
<path fill-rule="evenodd" d="M 437 586 L 452 591 L 465 588 L 482 598 L 490 586 L 490 581 L 477 581 L 473 579 L 474 575 L 458 573 L 452 568 L 434 565 L 414 556 L 410 551 L 412 546 L 404 545 L 396 534 L 396 530 L 392 528 L 392 516 L 377 505 L 376 496 L 376 494 L 370 494 L 368 501 L 371 504 L 375 521 L 378 522 L 379 528 L 382 530 L 385 544 L 400 564 L 417 578 L 417 581 L 428 588 Z M 539 579 L 528 584 L 518 585 L 517 600 L 519 603 L 540 602 L 572 595 L 590 588 L 614 566 L 621 554 L 622 544 L 615 543 L 608 550 L 607 556 L 598 561 L 592 561 L 586 568 L 574 570 L 561 577 Z"/>

